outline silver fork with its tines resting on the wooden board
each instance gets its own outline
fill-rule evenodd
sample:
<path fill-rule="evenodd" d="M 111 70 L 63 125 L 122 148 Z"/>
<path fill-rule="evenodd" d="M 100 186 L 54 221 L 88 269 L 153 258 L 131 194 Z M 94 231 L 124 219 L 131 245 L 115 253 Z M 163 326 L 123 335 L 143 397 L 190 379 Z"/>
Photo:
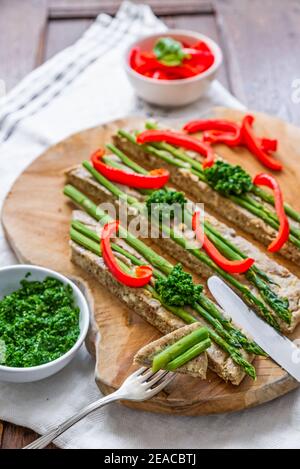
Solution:
<path fill-rule="evenodd" d="M 45 448 L 49 443 L 55 440 L 55 438 L 72 427 L 72 425 L 79 422 L 79 420 L 111 402 L 118 401 L 119 399 L 125 399 L 127 401 L 146 401 L 147 399 L 151 399 L 151 397 L 164 389 L 164 387 L 172 381 L 174 376 L 174 373 L 164 370 L 153 373 L 149 368 L 140 368 L 135 373 L 128 376 L 117 391 L 84 407 L 81 411 L 25 446 L 23 449 Z"/>

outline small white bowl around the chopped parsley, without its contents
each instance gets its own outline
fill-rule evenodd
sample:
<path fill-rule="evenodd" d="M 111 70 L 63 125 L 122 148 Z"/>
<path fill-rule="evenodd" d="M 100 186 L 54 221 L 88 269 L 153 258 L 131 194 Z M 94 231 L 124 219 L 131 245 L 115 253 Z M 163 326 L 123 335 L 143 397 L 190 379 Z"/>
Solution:
<path fill-rule="evenodd" d="M 33 265 L 13 265 L 0 269 L 0 300 L 20 288 L 20 281 L 24 279 L 27 272 L 31 275 L 29 280 L 43 281 L 46 277 L 54 277 L 62 281 L 64 284 L 70 285 L 73 290 L 75 304 L 80 309 L 79 327 L 80 334 L 73 347 L 64 355 L 45 363 L 44 365 L 33 366 L 28 368 L 13 368 L 0 365 L 0 381 L 11 383 L 28 383 L 39 381 L 54 375 L 64 368 L 74 357 L 78 349 L 81 347 L 89 327 L 89 307 L 88 303 L 79 288 L 63 275 L 53 270 Z"/>

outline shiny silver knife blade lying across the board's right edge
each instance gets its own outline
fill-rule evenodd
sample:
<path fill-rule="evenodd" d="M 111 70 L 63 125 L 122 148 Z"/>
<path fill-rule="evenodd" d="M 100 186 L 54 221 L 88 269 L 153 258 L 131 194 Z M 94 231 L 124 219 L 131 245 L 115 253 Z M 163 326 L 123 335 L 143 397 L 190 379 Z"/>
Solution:
<path fill-rule="evenodd" d="M 207 285 L 225 315 L 232 318 L 278 365 L 300 382 L 300 350 L 297 345 L 258 317 L 219 277 L 213 275 Z"/>

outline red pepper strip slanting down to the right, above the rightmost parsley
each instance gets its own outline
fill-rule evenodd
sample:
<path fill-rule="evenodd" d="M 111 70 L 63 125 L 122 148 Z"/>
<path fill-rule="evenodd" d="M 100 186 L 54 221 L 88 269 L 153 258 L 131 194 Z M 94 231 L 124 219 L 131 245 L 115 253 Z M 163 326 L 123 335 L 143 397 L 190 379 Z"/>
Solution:
<path fill-rule="evenodd" d="M 270 157 L 268 153 L 263 151 L 260 146 L 260 140 L 254 135 L 252 130 L 252 123 L 254 117 L 247 115 L 244 117 L 241 128 L 241 136 L 243 143 L 247 146 L 248 150 L 256 156 L 256 158 L 267 168 L 273 171 L 281 171 L 282 164 Z"/>

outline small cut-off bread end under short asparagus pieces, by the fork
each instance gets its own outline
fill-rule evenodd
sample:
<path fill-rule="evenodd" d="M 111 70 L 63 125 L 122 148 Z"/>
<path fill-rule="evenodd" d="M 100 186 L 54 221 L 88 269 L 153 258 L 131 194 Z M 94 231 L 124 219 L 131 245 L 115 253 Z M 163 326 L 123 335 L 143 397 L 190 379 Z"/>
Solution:
<path fill-rule="evenodd" d="M 164 337 L 155 340 L 154 342 L 150 342 L 150 344 L 145 345 L 145 347 L 141 348 L 137 352 L 134 357 L 134 363 L 142 366 L 151 367 L 153 357 L 157 353 L 162 352 L 169 345 L 174 344 L 182 337 L 190 334 L 191 332 L 199 328 L 201 328 L 200 324 L 190 324 L 188 326 L 181 327 L 180 329 L 177 329 L 176 331 L 173 331 L 170 334 L 167 334 Z M 185 373 L 192 375 L 196 378 L 205 379 L 207 365 L 207 353 L 203 352 L 174 371 L 176 373 Z"/>

